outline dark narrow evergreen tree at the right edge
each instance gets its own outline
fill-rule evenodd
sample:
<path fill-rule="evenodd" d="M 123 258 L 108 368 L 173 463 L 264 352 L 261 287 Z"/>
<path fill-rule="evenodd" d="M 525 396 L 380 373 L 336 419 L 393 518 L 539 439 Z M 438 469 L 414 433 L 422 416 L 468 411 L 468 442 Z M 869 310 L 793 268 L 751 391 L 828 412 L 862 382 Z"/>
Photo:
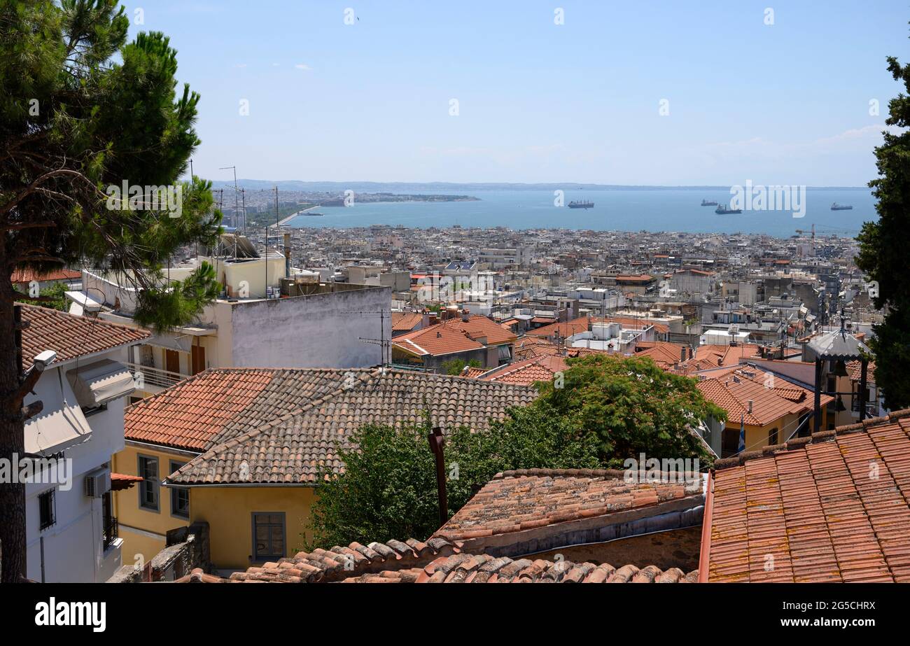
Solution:
<path fill-rule="evenodd" d="M 910 65 L 888 57 L 888 71 L 910 92 Z M 910 96 L 903 93 L 888 104 L 888 126 L 910 126 Z M 910 131 L 883 132 L 875 148 L 879 177 L 869 182 L 878 200 L 877 222 L 866 222 L 858 237 L 856 266 L 878 284 L 875 307 L 885 308 L 885 318 L 875 326 L 869 347 L 875 353 L 875 383 L 885 393 L 885 407 L 910 406 L 910 254 L 905 237 L 910 231 Z"/>

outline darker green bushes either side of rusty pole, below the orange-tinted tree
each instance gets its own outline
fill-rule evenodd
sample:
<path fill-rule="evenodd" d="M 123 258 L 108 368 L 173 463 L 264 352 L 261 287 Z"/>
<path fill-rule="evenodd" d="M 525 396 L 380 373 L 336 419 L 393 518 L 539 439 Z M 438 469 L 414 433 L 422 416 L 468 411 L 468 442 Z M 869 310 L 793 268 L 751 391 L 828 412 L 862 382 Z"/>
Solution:
<path fill-rule="evenodd" d="M 344 473 L 320 473 L 310 546 L 353 540 L 425 539 L 439 529 L 436 466 L 421 428 L 365 426 L 339 448 Z M 356 448 L 355 448 L 356 447 Z M 597 442 L 583 437 L 546 407 L 510 409 L 489 431 L 455 429 L 446 435 L 450 514 L 507 469 L 596 469 Z"/>

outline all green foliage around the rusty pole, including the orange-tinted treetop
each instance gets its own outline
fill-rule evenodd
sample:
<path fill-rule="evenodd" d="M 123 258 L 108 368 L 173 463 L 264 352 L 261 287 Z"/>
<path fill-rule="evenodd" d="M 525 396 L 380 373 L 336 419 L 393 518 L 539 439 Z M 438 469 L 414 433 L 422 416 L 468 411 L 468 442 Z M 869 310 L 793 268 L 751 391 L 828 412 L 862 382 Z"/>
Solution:
<path fill-rule="evenodd" d="M 490 430 L 446 434 L 449 512 L 508 469 L 622 469 L 639 457 L 694 459 L 711 464 L 688 427 L 725 419 L 705 400 L 695 379 L 658 368 L 650 358 L 571 359 L 563 388 L 541 385 L 530 406 L 509 409 Z M 436 471 L 420 429 L 366 426 L 339 447 L 344 473 L 319 474 L 310 547 L 353 540 L 425 539 L 439 529 Z"/>

